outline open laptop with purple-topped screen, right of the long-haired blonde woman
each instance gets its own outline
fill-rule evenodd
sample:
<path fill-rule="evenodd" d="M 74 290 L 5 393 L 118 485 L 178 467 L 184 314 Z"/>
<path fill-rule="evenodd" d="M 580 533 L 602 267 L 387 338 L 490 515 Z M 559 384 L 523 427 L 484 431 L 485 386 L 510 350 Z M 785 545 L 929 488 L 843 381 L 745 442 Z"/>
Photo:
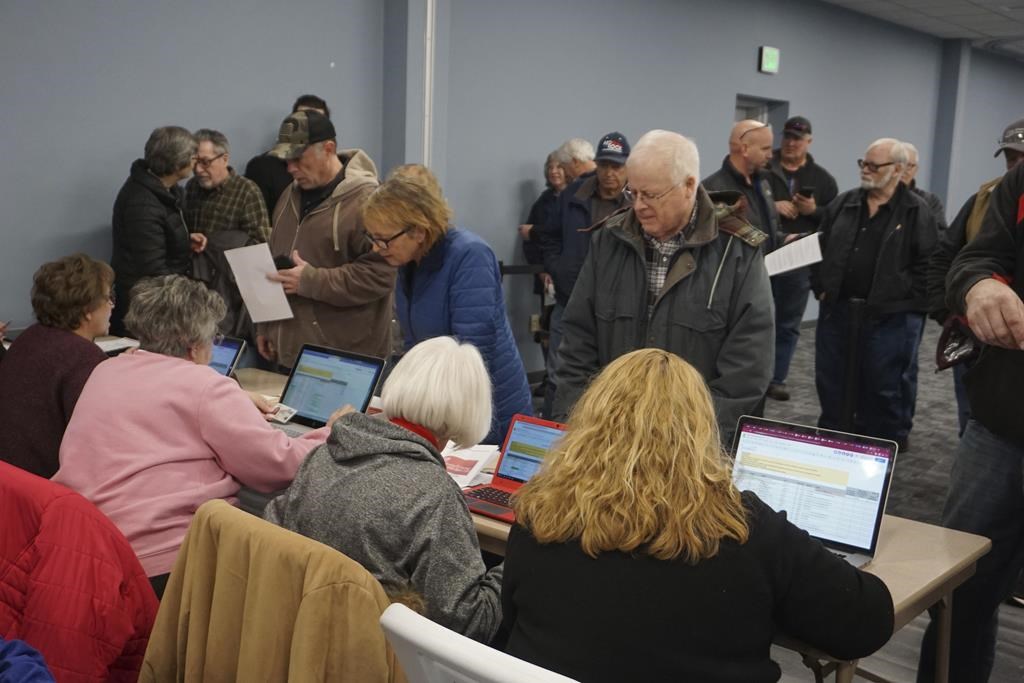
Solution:
<path fill-rule="evenodd" d="M 896 442 L 739 418 L 732 481 L 854 566 L 874 557 Z"/>

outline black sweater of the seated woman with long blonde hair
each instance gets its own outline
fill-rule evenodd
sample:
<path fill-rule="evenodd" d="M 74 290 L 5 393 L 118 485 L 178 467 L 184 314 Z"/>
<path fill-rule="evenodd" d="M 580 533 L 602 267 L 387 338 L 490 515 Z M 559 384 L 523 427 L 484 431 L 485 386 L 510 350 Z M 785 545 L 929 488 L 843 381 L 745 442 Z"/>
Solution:
<path fill-rule="evenodd" d="M 579 543 L 539 544 L 515 526 L 502 585 L 506 651 L 581 681 L 777 681 L 776 633 L 841 658 L 892 635 L 892 597 L 744 493 L 750 540 L 687 565 Z"/>

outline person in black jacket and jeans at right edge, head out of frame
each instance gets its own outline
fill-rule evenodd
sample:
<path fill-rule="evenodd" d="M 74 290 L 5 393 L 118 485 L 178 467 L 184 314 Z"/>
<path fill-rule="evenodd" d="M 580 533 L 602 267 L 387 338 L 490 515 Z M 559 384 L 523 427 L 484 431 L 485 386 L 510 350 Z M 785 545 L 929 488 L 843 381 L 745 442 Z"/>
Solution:
<path fill-rule="evenodd" d="M 1012 132 L 1012 131 L 1011 131 Z M 1024 127 L 1016 131 L 1024 144 Z M 971 420 L 956 450 L 942 523 L 986 536 L 991 551 L 953 593 L 949 680 L 984 683 L 995 656 L 995 610 L 1024 568 L 1024 164 L 1004 176 L 977 237 L 953 260 L 946 303 L 985 347 L 967 377 Z M 935 624 L 919 681 L 931 681 Z"/>

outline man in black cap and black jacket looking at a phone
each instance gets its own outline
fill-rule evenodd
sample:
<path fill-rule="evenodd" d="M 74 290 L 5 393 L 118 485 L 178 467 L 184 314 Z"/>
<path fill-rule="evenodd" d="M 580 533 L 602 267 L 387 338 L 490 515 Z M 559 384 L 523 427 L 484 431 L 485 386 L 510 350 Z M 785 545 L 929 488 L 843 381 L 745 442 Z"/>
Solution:
<path fill-rule="evenodd" d="M 818 166 L 808 150 L 811 146 L 811 122 L 795 116 L 782 126 L 782 144 L 772 155 L 768 182 L 775 195 L 782 231 L 816 232 L 825 207 L 836 199 L 836 178 Z M 798 268 L 772 276 L 771 293 L 775 300 L 775 371 L 768 385 L 768 397 L 788 400 L 785 378 L 800 340 L 800 323 L 811 292 L 809 268 Z"/>

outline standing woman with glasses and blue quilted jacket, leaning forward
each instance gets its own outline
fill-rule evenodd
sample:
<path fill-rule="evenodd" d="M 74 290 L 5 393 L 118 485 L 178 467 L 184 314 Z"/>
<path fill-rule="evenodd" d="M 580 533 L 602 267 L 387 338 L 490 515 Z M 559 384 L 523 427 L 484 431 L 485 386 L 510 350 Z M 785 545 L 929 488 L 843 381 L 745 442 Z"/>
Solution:
<path fill-rule="evenodd" d="M 451 219 L 437 179 L 422 166 L 399 169 L 362 208 L 374 251 L 398 267 L 395 307 L 406 348 L 441 336 L 476 346 L 494 385 L 483 442 L 501 443 L 513 415 L 532 415 L 529 385 L 505 312 L 498 259 Z"/>

